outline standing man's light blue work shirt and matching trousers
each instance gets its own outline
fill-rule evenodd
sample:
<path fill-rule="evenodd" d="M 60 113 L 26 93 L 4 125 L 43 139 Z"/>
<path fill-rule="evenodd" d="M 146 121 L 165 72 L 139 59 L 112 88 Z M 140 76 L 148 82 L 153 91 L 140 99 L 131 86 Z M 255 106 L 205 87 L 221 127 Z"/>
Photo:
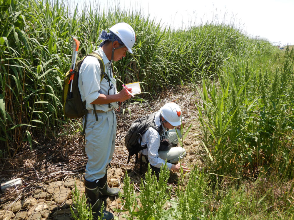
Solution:
<path fill-rule="evenodd" d="M 101 55 L 105 65 L 105 72 L 110 79 L 111 89 L 109 94 L 117 94 L 116 79 L 113 78 L 110 61 L 102 48 L 98 48 L 95 52 Z M 103 78 L 100 83 L 100 74 L 101 69 L 97 58 L 86 57 L 80 68 L 78 88 L 82 101 L 86 100 L 86 109 L 88 110 L 85 129 L 85 150 L 88 162 L 85 179 L 91 182 L 105 175 L 106 166 L 113 156 L 116 139 L 116 115 L 113 109 L 118 107 L 117 102 L 110 103 L 110 108 L 108 104 L 95 105 L 98 112 L 98 121 L 96 121 L 93 104 L 91 104 L 100 94 L 108 94 L 108 81 Z M 83 124 L 84 122 L 85 119 L 83 119 Z"/>

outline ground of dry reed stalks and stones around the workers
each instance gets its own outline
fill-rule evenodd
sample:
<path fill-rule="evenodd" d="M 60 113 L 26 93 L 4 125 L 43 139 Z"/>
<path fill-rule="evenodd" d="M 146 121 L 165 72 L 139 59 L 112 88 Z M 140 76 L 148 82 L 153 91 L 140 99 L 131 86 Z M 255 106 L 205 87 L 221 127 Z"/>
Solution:
<path fill-rule="evenodd" d="M 196 101 L 198 93 L 191 87 L 179 87 L 164 90 L 156 99 L 141 104 L 126 104 L 120 106 L 117 112 L 116 149 L 108 168 L 108 185 L 123 189 L 125 173 L 138 189 L 144 172 L 134 167 L 134 157 L 127 164 L 128 151 L 124 145 L 124 136 L 130 124 L 137 118 L 158 111 L 167 102 L 176 102 L 181 106 L 186 125 L 192 128 L 184 141 L 187 155 L 185 163 L 200 164 L 202 148 L 200 145 L 201 131 L 198 126 Z M 123 109 L 125 109 L 124 114 Z M 127 110 L 126 110 L 127 109 Z M 131 113 L 131 114 L 130 114 Z M 83 184 L 87 156 L 84 153 L 83 136 L 61 136 L 48 140 L 32 151 L 24 150 L 7 159 L 0 170 L 1 182 L 11 177 L 21 178 L 22 186 L 5 189 L 1 192 L 0 219 L 71 219 L 70 206 L 74 184 L 81 195 L 85 191 Z M 146 171 L 143 164 L 143 171 Z M 145 169 L 145 170 L 144 170 Z M 168 184 L 176 186 L 178 174 L 171 172 Z M 140 202 L 138 202 L 140 203 Z M 117 197 L 105 199 L 106 209 L 121 216 L 113 209 L 121 208 Z"/>

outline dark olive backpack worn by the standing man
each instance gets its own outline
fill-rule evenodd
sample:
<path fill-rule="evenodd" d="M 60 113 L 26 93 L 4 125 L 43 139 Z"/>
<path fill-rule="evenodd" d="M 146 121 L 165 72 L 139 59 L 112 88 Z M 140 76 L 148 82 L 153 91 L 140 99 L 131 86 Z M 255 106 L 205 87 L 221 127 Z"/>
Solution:
<path fill-rule="evenodd" d="M 79 71 L 81 68 L 81 64 L 87 56 L 96 57 L 98 59 L 99 64 L 100 64 L 100 69 L 101 69 L 100 82 L 102 81 L 103 78 L 105 78 L 108 81 L 108 84 L 109 84 L 108 95 L 109 95 L 109 90 L 111 88 L 109 76 L 105 73 L 105 65 L 104 65 L 103 59 L 98 53 L 92 52 L 89 55 L 84 56 L 81 60 L 76 62 L 76 65 L 75 65 L 73 71 L 71 71 L 71 72 L 68 71 L 66 73 L 66 76 L 64 78 L 63 89 L 62 89 L 62 103 L 63 103 L 64 115 L 66 117 L 71 118 L 71 119 L 80 118 L 85 115 L 83 134 L 84 134 L 85 128 L 86 128 L 86 119 L 87 119 L 88 110 L 86 109 L 86 101 L 82 101 L 82 99 L 81 99 L 80 90 L 78 89 L 78 77 L 79 77 Z M 111 70 L 113 73 L 114 71 L 113 71 L 113 64 L 112 63 L 111 63 Z M 71 77 L 73 74 L 74 74 L 74 77 Z M 69 84 L 70 84 L 71 78 L 73 78 L 73 79 L 71 82 L 72 94 L 71 94 L 71 98 L 70 98 Z M 111 107 L 110 104 L 108 104 L 108 108 L 110 108 L 110 107 Z M 94 108 L 96 120 L 98 121 L 98 117 L 96 114 L 96 109 L 95 109 L 94 104 L 93 104 L 93 108 Z"/>

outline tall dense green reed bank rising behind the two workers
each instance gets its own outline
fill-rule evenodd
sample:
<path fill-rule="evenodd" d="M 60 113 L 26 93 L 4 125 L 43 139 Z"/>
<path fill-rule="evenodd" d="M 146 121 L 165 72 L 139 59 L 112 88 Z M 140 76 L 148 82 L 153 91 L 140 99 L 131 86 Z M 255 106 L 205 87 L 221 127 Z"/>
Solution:
<path fill-rule="evenodd" d="M 102 30 L 118 22 L 130 23 L 136 31 L 135 54 L 115 66 L 122 82 L 143 82 L 145 98 L 169 85 L 197 82 L 201 75 L 216 76 L 237 53 L 260 53 L 250 46 L 255 40 L 231 26 L 203 24 L 175 31 L 119 7 L 105 11 L 94 5 L 69 12 L 65 1 L 1 2 L 1 157 L 14 155 L 26 143 L 32 147 L 73 129 L 63 127 L 70 121 L 64 118 L 61 104 L 72 35 L 81 41 L 78 56 L 83 57 L 98 48 Z"/>

